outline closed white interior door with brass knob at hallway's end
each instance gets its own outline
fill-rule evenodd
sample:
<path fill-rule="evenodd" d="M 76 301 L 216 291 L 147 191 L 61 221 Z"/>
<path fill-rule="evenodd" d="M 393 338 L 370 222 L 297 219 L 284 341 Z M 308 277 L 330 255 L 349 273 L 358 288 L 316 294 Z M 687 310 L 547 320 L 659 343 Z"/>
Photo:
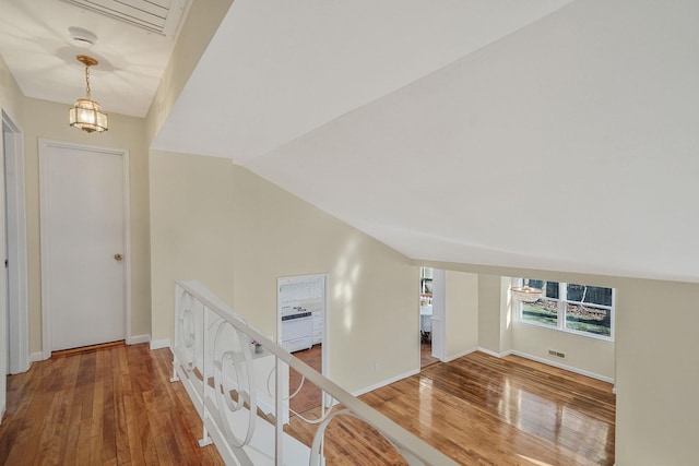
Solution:
<path fill-rule="evenodd" d="M 46 345 L 55 351 L 126 337 L 125 153 L 61 143 L 43 148 L 47 356 Z"/>

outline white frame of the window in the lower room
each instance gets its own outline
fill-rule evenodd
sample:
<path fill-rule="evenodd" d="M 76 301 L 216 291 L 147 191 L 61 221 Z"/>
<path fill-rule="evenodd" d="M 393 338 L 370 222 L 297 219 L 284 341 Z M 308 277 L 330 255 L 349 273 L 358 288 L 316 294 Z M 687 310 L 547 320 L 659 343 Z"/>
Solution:
<path fill-rule="evenodd" d="M 535 279 L 535 278 L 531 278 L 531 279 Z M 549 280 L 545 280 L 545 282 L 549 282 Z M 550 282 L 554 282 L 554 280 L 550 280 Z M 523 310 L 524 310 L 524 306 L 523 306 L 522 301 L 520 301 L 520 300 L 516 300 L 517 321 L 521 322 L 523 324 L 535 325 L 537 327 L 548 328 L 548 330 L 556 331 L 556 332 L 570 333 L 570 334 L 583 336 L 583 337 L 587 337 L 587 338 L 594 338 L 594 339 L 600 339 L 600 340 L 603 340 L 603 342 L 614 343 L 615 320 L 616 320 L 616 289 L 615 288 L 609 288 L 609 289 L 612 289 L 612 306 L 604 306 L 604 304 L 597 304 L 597 303 L 591 303 L 591 302 L 580 302 L 580 301 L 569 300 L 568 299 L 568 286 L 567 285 L 569 285 L 570 283 L 569 282 L 556 282 L 556 283 L 558 283 L 558 298 L 548 298 L 548 297 L 546 297 L 546 292 L 545 291 L 544 291 L 544 296 L 541 297 L 541 300 L 547 300 L 547 301 L 555 301 L 556 302 L 556 309 L 557 309 L 556 325 L 548 325 L 548 324 L 545 324 L 545 323 L 541 323 L 541 322 L 536 322 L 536 321 L 524 319 L 522 316 Z M 517 286 L 523 286 L 523 285 L 524 285 L 524 278 L 517 278 Z M 571 284 L 571 285 L 592 286 L 592 285 L 584 285 L 584 284 Z M 604 288 L 608 288 L 608 287 L 604 287 Z M 608 310 L 609 314 L 611 314 L 609 315 L 609 336 L 600 335 L 600 334 L 595 334 L 595 333 L 591 333 L 591 332 L 579 331 L 579 330 L 574 330 L 574 328 L 568 328 L 566 326 L 566 323 L 567 323 L 566 312 L 567 312 L 567 309 L 568 309 L 568 307 L 566 306 L 567 303 L 577 304 L 577 306 L 583 306 L 583 307 L 588 307 L 588 308 L 592 308 L 592 309 L 605 309 L 605 310 Z"/>

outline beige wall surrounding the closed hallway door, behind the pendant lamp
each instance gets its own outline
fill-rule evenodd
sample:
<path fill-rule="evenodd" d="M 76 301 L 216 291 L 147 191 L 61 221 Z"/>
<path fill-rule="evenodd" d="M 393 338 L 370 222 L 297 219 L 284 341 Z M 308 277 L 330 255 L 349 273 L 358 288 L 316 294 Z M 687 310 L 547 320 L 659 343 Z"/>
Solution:
<path fill-rule="evenodd" d="M 29 351 L 42 350 L 39 138 L 129 151 L 131 190 L 131 334 L 150 325 L 149 163 L 141 118 L 109 115 L 109 130 L 87 134 L 68 126 L 68 105 L 25 98 L 24 160 L 27 230 Z"/>

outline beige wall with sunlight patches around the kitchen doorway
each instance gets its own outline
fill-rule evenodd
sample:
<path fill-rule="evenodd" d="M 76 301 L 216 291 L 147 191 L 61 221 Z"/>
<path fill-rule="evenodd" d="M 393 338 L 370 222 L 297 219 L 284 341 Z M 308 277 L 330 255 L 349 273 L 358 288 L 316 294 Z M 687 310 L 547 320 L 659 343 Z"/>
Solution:
<path fill-rule="evenodd" d="M 244 168 L 234 186 L 236 310 L 275 333 L 276 278 L 328 273 L 330 378 L 357 391 L 419 367 L 418 267 Z"/>

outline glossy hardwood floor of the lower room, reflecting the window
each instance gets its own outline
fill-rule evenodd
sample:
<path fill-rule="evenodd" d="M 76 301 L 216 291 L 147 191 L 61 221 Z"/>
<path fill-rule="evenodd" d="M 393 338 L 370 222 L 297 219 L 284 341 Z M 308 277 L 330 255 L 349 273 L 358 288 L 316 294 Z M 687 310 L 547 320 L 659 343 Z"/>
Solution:
<path fill-rule="evenodd" d="M 613 465 L 612 385 L 473 353 L 360 399 L 464 465 Z"/>

